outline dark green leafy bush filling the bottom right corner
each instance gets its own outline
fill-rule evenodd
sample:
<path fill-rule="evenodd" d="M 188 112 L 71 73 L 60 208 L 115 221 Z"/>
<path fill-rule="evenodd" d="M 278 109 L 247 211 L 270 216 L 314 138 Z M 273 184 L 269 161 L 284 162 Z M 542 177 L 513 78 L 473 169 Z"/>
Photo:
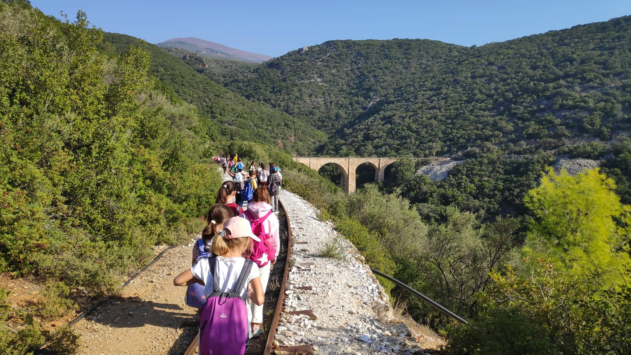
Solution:
<path fill-rule="evenodd" d="M 523 275 L 494 272 L 480 312 L 447 331 L 445 354 L 627 354 L 631 293 L 558 274 L 545 258 Z M 627 277 L 630 270 L 623 270 Z"/>

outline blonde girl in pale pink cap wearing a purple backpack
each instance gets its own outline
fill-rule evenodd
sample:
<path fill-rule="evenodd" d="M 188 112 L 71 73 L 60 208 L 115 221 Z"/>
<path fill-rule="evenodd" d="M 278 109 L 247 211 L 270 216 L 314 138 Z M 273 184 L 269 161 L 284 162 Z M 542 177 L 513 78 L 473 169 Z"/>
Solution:
<path fill-rule="evenodd" d="M 251 249 L 251 241 L 261 239 L 252 233 L 247 220 L 232 217 L 212 240 L 213 256 L 201 258 L 173 280 L 175 286 L 205 285 L 206 303 L 199 316 L 199 354 L 245 353 L 252 319 L 245 300 L 261 305 L 265 297 L 259 268 L 242 256 Z"/>

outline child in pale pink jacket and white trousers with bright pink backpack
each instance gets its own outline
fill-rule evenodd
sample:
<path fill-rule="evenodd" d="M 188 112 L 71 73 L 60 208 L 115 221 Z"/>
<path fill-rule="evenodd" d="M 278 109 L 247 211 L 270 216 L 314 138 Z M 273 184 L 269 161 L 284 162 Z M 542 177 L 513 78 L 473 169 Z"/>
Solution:
<path fill-rule="evenodd" d="M 254 191 L 252 202 L 247 204 L 247 210 L 241 217 L 247 219 L 252 225 L 254 234 L 260 233 L 262 243 L 254 243 L 250 260 L 259 267 L 263 292 L 268 287 L 269 270 L 276 263 L 280 251 L 280 234 L 278 232 L 278 217 L 272 213 L 269 205 L 268 190 L 262 186 Z M 263 307 L 251 304 L 252 308 L 252 336 L 261 334 L 263 321 Z"/>

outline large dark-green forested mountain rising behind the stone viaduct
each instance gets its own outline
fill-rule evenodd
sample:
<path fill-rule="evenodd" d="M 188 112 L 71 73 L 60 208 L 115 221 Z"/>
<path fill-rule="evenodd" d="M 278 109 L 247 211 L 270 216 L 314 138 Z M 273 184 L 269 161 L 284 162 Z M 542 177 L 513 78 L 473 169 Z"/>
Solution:
<path fill-rule="evenodd" d="M 334 40 L 223 85 L 330 135 L 321 153 L 509 153 L 628 134 L 631 17 L 462 47 Z"/>

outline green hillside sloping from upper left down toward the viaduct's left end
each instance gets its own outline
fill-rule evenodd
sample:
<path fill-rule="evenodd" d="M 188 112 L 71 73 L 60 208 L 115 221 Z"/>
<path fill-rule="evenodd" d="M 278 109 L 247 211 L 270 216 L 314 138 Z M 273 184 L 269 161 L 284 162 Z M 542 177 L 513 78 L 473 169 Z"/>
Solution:
<path fill-rule="evenodd" d="M 119 33 L 104 33 L 103 42 L 103 51 L 110 53 L 138 45 L 138 39 Z M 196 105 L 200 116 L 213 124 L 209 128 L 211 137 L 259 141 L 300 154 L 312 152 L 326 140 L 324 133 L 304 120 L 246 100 L 156 45 L 145 46 L 151 52 L 150 71 L 163 83 L 162 90 L 172 90 L 172 94 Z"/>

